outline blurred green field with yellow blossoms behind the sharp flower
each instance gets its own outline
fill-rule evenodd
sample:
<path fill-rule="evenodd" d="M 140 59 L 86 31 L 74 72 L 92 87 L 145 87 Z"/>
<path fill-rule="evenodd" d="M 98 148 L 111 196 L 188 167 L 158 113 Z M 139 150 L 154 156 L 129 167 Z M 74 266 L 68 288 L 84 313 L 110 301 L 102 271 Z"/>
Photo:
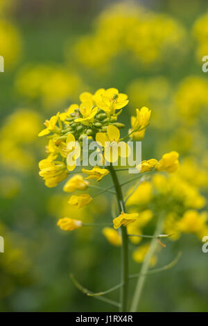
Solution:
<path fill-rule="evenodd" d="M 108 289 L 120 275 L 119 248 L 101 230 L 69 233 L 56 226 L 58 218 L 74 214 L 87 222 L 106 221 L 110 197 L 76 211 L 67 204 L 63 184 L 46 188 L 38 175 L 46 139 L 37 134 L 46 118 L 77 103 L 81 92 L 116 87 L 130 99 L 123 121 L 130 121 L 135 108 L 152 110 L 143 160 L 178 151 L 180 178 L 192 196 L 182 214 L 186 209 L 204 214 L 207 1 L 0 0 L 0 55 L 5 60 L 0 73 L 0 235 L 5 239 L 0 310 L 114 311 L 80 293 L 69 273 L 92 291 Z M 109 182 L 107 177 L 102 186 Z M 153 227 L 147 225 L 146 234 Z M 147 278 L 139 311 L 207 311 L 208 253 L 202 252 L 195 230 L 175 240 L 159 251 L 157 266 L 168 264 L 180 250 L 182 259 Z M 141 268 L 136 260 L 130 261 L 132 273 Z M 131 293 L 134 288 L 132 281 Z"/>

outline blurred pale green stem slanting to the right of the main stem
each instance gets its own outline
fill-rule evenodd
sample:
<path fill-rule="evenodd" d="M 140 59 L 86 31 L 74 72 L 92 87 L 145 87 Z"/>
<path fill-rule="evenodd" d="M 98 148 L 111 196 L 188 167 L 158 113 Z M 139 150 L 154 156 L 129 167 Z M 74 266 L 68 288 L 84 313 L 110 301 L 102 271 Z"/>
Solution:
<path fill-rule="evenodd" d="M 162 216 L 159 216 L 157 226 L 155 229 L 155 235 L 160 234 L 162 232 L 163 224 L 164 224 L 164 216 L 162 214 Z M 148 272 L 150 259 L 153 257 L 156 247 L 157 247 L 157 239 L 153 238 L 152 241 L 150 242 L 150 247 L 141 266 L 141 271 L 139 273 L 139 278 L 135 289 L 135 295 L 133 297 L 132 306 L 130 308 L 131 312 L 137 311 L 139 300 L 141 298 L 141 292 L 143 290 L 144 282 L 146 280 L 146 273 Z"/>

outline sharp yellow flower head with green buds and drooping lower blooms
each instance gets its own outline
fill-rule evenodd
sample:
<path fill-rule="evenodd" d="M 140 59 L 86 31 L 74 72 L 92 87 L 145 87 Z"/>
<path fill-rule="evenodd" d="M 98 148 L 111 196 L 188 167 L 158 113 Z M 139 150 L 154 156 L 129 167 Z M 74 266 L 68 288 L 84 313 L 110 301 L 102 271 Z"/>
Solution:
<path fill-rule="evenodd" d="M 128 96 L 126 94 L 119 93 L 118 89 L 115 88 L 102 88 L 98 89 L 94 94 L 89 92 L 80 94 L 80 104 L 72 104 L 65 112 L 58 112 L 51 119 L 45 121 L 45 128 L 39 133 L 39 136 L 46 135 L 49 138 L 49 144 L 46 146 L 48 157 L 40 161 L 39 166 L 40 176 L 44 179 L 47 187 L 57 186 L 59 182 L 66 179 L 76 169 L 76 164 L 73 164 L 73 166 L 67 164 L 67 155 L 73 151 L 74 158 L 77 159 L 79 157 L 82 160 L 82 153 L 77 148 L 77 144 L 82 147 L 84 137 L 87 137 L 89 141 L 97 141 L 103 148 L 107 142 L 110 144 L 123 143 L 127 149 L 128 145 L 125 143 L 125 139 L 128 139 L 128 137 L 130 139 L 137 139 L 138 134 L 140 134 L 139 138 L 141 138 L 141 132 L 145 132 L 149 124 L 151 111 L 146 107 L 142 107 L 141 110 L 136 109 L 136 116 L 131 118 L 132 129 L 129 130 L 127 136 L 121 137 L 119 129 L 123 128 L 124 125 L 119 123 L 117 119 L 127 104 Z M 103 167 L 94 166 L 92 169 L 83 168 L 80 173 L 72 175 L 67 180 L 63 190 L 67 193 L 73 193 L 74 191 L 85 191 L 90 187 L 97 187 L 91 185 L 89 180 L 96 180 L 97 182 L 103 180 L 110 173 L 107 162 L 110 164 L 115 162 L 112 153 L 107 153 L 107 149 L 108 147 L 105 147 Z M 119 152 L 119 155 L 122 156 L 122 151 Z M 140 173 L 153 170 L 155 172 L 167 171 L 168 173 L 173 173 L 177 171 L 178 166 L 178 153 L 172 151 L 164 154 L 159 161 L 156 159 L 142 161 L 137 166 L 137 169 Z M 142 203 L 145 203 L 145 201 L 148 203 L 152 197 L 151 187 L 150 182 L 142 182 L 134 194 L 128 198 L 128 206 L 134 205 L 134 203 L 138 205 L 139 200 Z M 103 191 L 105 189 L 101 192 Z M 139 191 L 141 192 L 141 196 L 138 196 Z M 90 194 L 73 194 L 69 198 L 68 203 L 74 207 L 81 208 L 89 205 L 93 197 Z M 103 234 L 110 243 L 115 246 L 120 246 L 121 237 L 116 229 L 124 226 L 128 228 L 128 232 L 137 234 L 137 232 L 141 232 L 141 228 L 152 217 L 153 213 L 150 209 L 146 209 L 146 211 L 139 214 L 137 212 L 121 212 L 112 221 L 115 230 L 113 228 L 104 228 Z M 74 230 L 81 228 L 83 223 L 71 217 L 64 217 L 60 218 L 58 225 L 62 230 Z M 138 243 L 140 239 L 135 238 L 132 237 L 132 241 Z"/>

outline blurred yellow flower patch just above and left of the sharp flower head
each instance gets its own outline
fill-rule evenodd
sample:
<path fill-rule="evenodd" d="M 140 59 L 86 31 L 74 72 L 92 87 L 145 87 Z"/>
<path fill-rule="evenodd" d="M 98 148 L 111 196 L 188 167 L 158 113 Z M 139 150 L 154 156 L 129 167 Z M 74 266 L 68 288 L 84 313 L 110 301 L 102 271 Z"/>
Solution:
<path fill-rule="evenodd" d="M 26 65 L 17 74 L 16 89 L 26 98 L 40 98 L 46 110 L 76 98 L 81 86 L 78 74 L 61 65 Z"/>

